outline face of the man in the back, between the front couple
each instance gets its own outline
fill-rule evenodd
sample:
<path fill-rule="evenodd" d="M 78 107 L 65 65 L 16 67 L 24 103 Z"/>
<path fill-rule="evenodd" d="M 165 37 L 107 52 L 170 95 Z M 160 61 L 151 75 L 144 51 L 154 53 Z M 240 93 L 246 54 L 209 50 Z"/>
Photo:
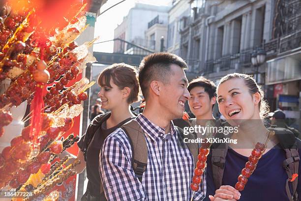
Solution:
<path fill-rule="evenodd" d="M 205 116 L 208 113 L 212 114 L 212 105 L 215 103 L 215 98 L 209 97 L 205 92 L 204 87 L 194 87 L 190 90 L 190 99 L 188 100 L 189 108 L 196 117 Z"/>

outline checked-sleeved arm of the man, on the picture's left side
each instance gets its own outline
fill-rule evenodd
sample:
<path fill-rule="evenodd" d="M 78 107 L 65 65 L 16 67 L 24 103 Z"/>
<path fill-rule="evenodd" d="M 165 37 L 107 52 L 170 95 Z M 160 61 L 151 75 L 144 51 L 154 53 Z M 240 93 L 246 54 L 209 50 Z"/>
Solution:
<path fill-rule="evenodd" d="M 123 133 L 121 129 L 114 133 L 117 132 Z M 105 139 L 99 154 L 99 172 L 105 197 L 110 201 L 147 201 L 145 190 L 131 165 L 129 142 L 124 138 L 121 142 L 114 133 Z"/>

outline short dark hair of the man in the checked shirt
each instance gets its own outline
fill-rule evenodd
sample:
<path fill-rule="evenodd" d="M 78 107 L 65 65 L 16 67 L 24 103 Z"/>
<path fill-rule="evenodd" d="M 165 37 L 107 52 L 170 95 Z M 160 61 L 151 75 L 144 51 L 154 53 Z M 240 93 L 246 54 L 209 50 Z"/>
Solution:
<path fill-rule="evenodd" d="M 178 65 L 183 70 L 187 69 L 184 60 L 171 53 L 153 53 L 143 58 L 139 66 L 139 84 L 145 99 L 149 95 L 151 81 L 158 80 L 169 83 L 169 77 L 173 74 L 170 70 L 171 64 Z"/>

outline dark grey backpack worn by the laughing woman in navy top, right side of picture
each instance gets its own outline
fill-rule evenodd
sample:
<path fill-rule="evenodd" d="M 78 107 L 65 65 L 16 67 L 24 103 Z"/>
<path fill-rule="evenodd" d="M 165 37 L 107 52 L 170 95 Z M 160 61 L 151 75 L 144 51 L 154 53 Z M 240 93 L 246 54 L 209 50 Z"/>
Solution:
<path fill-rule="evenodd" d="M 283 161 L 282 166 L 285 169 L 288 179 L 286 180 L 286 193 L 290 201 L 298 201 L 298 177 L 294 181 L 291 181 L 293 174 L 298 174 L 298 168 L 300 163 L 300 156 L 298 152 L 298 147 L 301 147 L 301 141 L 298 140 L 295 135 L 284 128 L 269 128 L 270 131 L 274 131 L 276 137 L 279 140 L 280 146 L 284 149 L 286 153 L 286 160 Z M 218 137 L 223 137 L 219 134 Z M 211 167 L 213 182 L 216 189 L 222 185 L 222 178 L 224 173 L 224 167 L 226 162 L 226 155 L 228 150 L 228 144 L 221 143 L 217 146 L 212 147 L 212 158 Z M 292 185 L 293 194 L 291 194 L 289 189 L 289 183 Z"/>

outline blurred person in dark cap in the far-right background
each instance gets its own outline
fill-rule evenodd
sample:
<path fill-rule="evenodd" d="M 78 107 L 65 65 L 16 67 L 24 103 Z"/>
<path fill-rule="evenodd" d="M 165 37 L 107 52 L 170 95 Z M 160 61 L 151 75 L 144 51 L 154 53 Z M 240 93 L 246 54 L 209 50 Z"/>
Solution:
<path fill-rule="evenodd" d="M 300 132 L 297 129 L 293 128 L 293 127 L 289 127 L 285 123 L 285 114 L 284 114 L 283 110 L 277 109 L 274 112 L 270 112 L 268 116 L 271 119 L 271 126 L 276 126 L 276 127 L 279 127 L 279 128 L 288 129 L 291 132 L 293 132 L 293 134 L 295 134 L 296 137 L 301 139 Z"/>

